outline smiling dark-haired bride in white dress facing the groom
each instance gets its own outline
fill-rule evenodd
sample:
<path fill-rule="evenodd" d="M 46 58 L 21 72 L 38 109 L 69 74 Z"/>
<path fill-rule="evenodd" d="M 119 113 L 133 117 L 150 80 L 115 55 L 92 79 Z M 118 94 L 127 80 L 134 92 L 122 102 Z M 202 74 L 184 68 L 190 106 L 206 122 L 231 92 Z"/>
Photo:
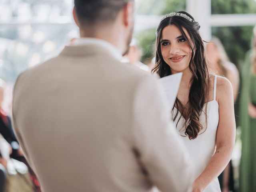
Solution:
<path fill-rule="evenodd" d="M 196 168 L 192 191 L 220 192 L 217 177 L 235 142 L 233 92 L 226 78 L 208 73 L 199 28 L 186 12 L 162 18 L 152 72 L 160 77 L 183 73 L 172 117 Z"/>

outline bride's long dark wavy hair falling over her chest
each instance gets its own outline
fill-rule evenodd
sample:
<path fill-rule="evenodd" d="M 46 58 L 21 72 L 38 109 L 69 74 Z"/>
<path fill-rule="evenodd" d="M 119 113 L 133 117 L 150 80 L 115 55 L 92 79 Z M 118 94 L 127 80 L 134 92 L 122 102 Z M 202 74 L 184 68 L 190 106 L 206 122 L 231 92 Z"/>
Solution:
<path fill-rule="evenodd" d="M 187 12 L 180 11 L 178 13 L 186 14 L 192 18 L 192 20 L 194 20 L 194 18 Z M 171 68 L 168 64 L 166 64 L 166 62 L 164 62 L 161 53 L 162 30 L 169 25 L 175 25 L 179 28 L 192 50 L 189 69 L 193 76 L 190 80 L 191 87 L 188 96 L 187 115 L 184 117 L 186 127 L 185 134 L 190 140 L 192 140 L 195 139 L 200 130 L 203 129 L 203 126 L 200 123 L 200 114 L 203 112 L 203 107 L 209 94 L 210 79 L 204 53 L 204 42 L 199 34 L 200 25 L 198 22 L 191 22 L 190 20 L 181 16 L 171 16 L 162 20 L 156 30 L 156 63 L 152 69 L 152 72 L 157 73 L 161 78 L 171 74 Z M 191 40 L 189 40 L 184 30 L 188 32 Z M 178 98 L 176 98 L 174 106 L 177 108 L 177 112 L 174 116 L 175 120 L 178 117 L 178 112 L 180 109 L 181 114 L 184 114 L 185 106 L 182 105 Z M 174 107 L 172 108 L 172 113 L 174 113 Z"/>

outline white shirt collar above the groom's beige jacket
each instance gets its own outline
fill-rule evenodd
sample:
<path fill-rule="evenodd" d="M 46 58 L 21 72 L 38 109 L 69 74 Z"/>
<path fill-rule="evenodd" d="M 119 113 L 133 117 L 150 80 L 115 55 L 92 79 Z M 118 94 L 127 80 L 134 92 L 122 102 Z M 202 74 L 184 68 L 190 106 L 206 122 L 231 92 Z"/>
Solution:
<path fill-rule="evenodd" d="M 74 46 L 76 45 L 88 45 L 88 44 L 98 44 L 104 48 L 106 48 L 109 52 L 111 52 L 111 54 L 118 60 L 122 59 L 122 54 L 121 52 L 114 46 L 112 45 L 110 42 L 107 42 L 105 40 L 102 39 L 98 39 L 98 38 L 80 38 L 77 39 L 74 42 Z"/>

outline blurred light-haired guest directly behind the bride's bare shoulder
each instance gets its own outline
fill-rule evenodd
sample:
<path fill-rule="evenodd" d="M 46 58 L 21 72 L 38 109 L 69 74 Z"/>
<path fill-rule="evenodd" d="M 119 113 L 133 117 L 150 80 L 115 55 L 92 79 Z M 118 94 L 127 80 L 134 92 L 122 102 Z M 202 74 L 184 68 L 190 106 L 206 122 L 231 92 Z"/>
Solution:
<path fill-rule="evenodd" d="M 230 62 L 226 51 L 218 38 L 214 37 L 208 44 L 206 44 L 206 56 L 209 69 L 230 80 L 233 88 L 234 102 L 236 102 L 239 88 L 239 72 L 236 66 Z M 230 161 L 225 170 L 218 176 L 218 179 L 220 181 L 222 192 L 228 192 L 230 190 L 234 191 L 232 161 Z"/>

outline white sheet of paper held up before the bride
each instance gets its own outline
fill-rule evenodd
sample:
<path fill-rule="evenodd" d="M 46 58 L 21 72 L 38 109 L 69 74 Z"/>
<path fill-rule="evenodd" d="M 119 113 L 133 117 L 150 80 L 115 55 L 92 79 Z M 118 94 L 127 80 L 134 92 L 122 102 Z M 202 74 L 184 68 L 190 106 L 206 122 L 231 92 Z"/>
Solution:
<path fill-rule="evenodd" d="M 182 77 L 182 72 L 159 79 L 160 83 L 164 88 L 164 93 L 170 105 L 170 109 L 172 109 L 174 106 L 174 103 L 178 94 L 178 90 L 180 87 L 181 77 Z"/>

